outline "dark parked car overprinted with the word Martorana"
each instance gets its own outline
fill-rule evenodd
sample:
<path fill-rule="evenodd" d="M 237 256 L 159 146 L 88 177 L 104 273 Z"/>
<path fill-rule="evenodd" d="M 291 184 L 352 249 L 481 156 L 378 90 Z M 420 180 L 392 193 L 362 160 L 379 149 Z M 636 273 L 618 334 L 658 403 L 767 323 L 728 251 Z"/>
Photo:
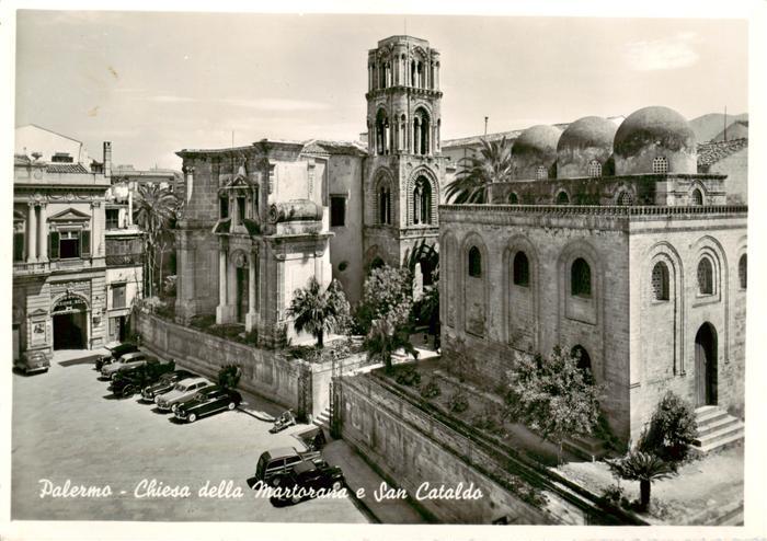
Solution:
<path fill-rule="evenodd" d="M 344 486 L 344 473 L 341 468 L 327 462 L 318 464 L 311 460 L 302 460 L 291 470 L 282 473 L 274 483 L 279 490 L 274 499 L 298 504 L 304 499 L 321 494 L 340 491 Z"/>

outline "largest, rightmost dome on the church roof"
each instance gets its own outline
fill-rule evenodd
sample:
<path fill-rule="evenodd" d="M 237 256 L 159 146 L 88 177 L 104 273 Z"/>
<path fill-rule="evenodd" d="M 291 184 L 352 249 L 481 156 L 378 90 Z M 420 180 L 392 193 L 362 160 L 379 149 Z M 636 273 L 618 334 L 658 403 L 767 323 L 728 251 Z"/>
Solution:
<path fill-rule="evenodd" d="M 662 106 L 641 108 L 615 135 L 616 173 L 656 172 L 655 159 L 665 159 L 668 173 L 695 173 L 696 146 L 695 133 L 679 113 Z"/>

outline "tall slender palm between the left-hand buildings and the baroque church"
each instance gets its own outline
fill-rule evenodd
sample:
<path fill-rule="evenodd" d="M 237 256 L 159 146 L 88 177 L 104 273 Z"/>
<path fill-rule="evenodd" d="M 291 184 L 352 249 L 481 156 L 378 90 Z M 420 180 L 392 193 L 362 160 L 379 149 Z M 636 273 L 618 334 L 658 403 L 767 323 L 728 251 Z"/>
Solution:
<path fill-rule="evenodd" d="M 173 220 L 179 207 L 179 199 L 168 187 L 149 183 L 138 186 L 136 199 L 136 223 L 144 231 L 144 251 L 147 254 L 147 285 L 149 291 L 147 297 L 154 293 L 154 262 L 157 250 L 164 246 L 162 240 Z M 160 265 L 162 266 L 162 253 L 160 253 Z M 162 280 L 162 268 L 160 268 L 160 280 Z"/>

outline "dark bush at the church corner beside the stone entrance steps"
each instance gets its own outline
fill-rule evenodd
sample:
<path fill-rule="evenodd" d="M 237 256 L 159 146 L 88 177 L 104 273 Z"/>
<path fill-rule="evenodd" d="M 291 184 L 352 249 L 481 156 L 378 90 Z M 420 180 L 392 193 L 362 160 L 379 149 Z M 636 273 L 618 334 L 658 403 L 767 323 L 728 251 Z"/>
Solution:
<path fill-rule="evenodd" d="M 698 437 L 692 406 L 668 391 L 659 402 L 650 425 L 642 431 L 640 451 L 657 456 L 676 465 L 689 453 L 689 446 Z"/>

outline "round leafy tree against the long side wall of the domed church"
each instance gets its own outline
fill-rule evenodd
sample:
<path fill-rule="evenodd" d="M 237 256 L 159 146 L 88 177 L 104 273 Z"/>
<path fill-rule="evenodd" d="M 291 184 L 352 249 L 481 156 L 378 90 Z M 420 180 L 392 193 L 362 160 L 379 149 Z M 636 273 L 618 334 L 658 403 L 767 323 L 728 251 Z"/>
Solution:
<path fill-rule="evenodd" d="M 577 359 L 557 346 L 551 356 L 516 354 L 506 395 L 506 416 L 559 445 L 569 436 L 589 435 L 599 417 L 599 388 Z"/>

